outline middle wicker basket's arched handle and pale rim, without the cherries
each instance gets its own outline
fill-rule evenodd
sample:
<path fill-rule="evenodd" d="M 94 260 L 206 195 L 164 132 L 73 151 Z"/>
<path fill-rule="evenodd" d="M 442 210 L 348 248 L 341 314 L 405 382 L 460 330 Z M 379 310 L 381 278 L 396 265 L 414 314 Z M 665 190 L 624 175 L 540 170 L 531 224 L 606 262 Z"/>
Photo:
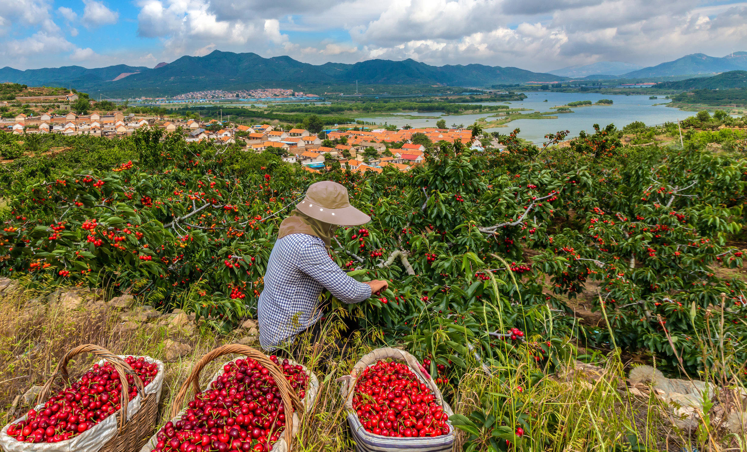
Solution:
<path fill-rule="evenodd" d="M 282 403 L 285 406 L 286 412 L 288 414 L 292 414 L 285 416 L 285 432 L 283 434 L 283 437 L 279 439 L 279 441 L 276 442 L 275 445 L 273 445 L 273 448 L 270 450 L 270 452 L 290 451 L 291 448 L 289 447 L 289 445 L 292 444 L 293 436 L 295 436 L 295 434 L 298 432 L 300 424 L 300 419 L 296 412 L 303 412 L 304 405 L 306 405 L 306 407 L 311 406 L 313 398 L 318 392 L 319 380 L 317 380 L 317 377 L 314 374 L 311 374 L 306 370 L 306 368 L 304 368 L 306 373 L 310 376 L 309 389 L 306 391 L 306 397 L 304 398 L 304 400 L 300 401 L 298 395 L 296 395 L 294 390 L 291 388 L 290 383 L 288 383 L 288 380 L 285 379 L 285 375 L 282 373 L 282 369 L 279 368 L 274 362 L 272 362 L 270 358 L 267 357 L 267 355 L 247 345 L 223 345 L 219 348 L 214 349 L 213 351 L 210 351 L 208 354 L 205 354 L 205 356 L 196 363 L 189 377 L 187 377 L 187 380 L 182 383 L 182 388 L 179 389 L 179 393 L 176 395 L 176 398 L 174 398 L 173 404 L 171 405 L 171 411 L 169 413 L 171 421 L 178 421 L 186 412 L 185 409 L 182 409 L 182 406 L 184 405 L 187 392 L 190 391 L 190 386 L 193 392 L 200 392 L 199 374 L 200 371 L 202 371 L 202 368 L 204 368 L 205 365 L 208 365 L 208 362 L 211 362 L 217 357 L 221 357 L 227 354 L 241 354 L 247 358 L 251 358 L 252 360 L 257 360 L 261 363 L 261 365 L 264 365 L 264 367 L 266 367 L 270 371 L 270 375 L 272 375 L 273 379 L 280 389 L 280 398 L 282 398 Z M 207 389 L 207 387 L 210 386 L 210 383 L 216 380 L 217 377 L 220 376 L 220 374 L 221 372 L 218 371 L 213 379 L 210 380 L 210 382 L 208 382 L 208 384 L 205 386 L 205 389 Z M 143 445 L 143 448 L 140 449 L 140 452 L 151 452 L 155 448 L 155 445 L 157 443 L 158 439 L 156 434 L 151 437 L 146 445 Z"/>

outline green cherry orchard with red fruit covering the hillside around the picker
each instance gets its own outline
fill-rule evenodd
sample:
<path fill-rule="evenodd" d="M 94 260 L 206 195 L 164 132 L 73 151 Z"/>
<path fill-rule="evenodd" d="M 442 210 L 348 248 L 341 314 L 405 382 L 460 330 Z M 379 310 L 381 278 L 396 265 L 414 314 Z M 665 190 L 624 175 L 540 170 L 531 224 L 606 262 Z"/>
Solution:
<path fill-rule="evenodd" d="M 332 258 L 359 280 L 392 281 L 358 305 L 326 294 L 345 308 L 335 315 L 356 316 L 373 343 L 403 342 L 444 383 L 527 354 L 552 366 L 577 346 L 617 346 L 665 371 L 681 357 L 695 372 L 714 360 L 698 338 L 719 340 L 722 304 L 730 371 L 743 374 L 746 287 L 726 271 L 743 263 L 729 245 L 744 222 L 743 158 L 692 142 L 623 148 L 612 125 L 560 148 L 517 132 L 499 136 L 508 152 L 439 142 L 409 172 L 357 175 L 138 131 L 107 169 L 10 184 L 0 275 L 129 290 L 228 331 L 255 316 L 289 206 L 328 179 L 372 217 L 338 229 Z M 608 326 L 580 324 L 577 297 Z"/>

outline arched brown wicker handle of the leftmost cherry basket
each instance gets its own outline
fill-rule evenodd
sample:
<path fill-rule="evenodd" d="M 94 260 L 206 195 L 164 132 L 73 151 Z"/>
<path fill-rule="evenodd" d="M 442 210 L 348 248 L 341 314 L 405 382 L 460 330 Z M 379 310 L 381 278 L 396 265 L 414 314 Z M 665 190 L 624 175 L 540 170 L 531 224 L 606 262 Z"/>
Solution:
<path fill-rule="evenodd" d="M 57 363 L 57 366 L 55 366 L 55 371 L 52 372 L 52 376 L 49 377 L 48 380 L 46 380 L 46 383 L 44 383 L 44 386 L 42 386 L 41 391 L 39 392 L 39 397 L 37 398 L 37 403 L 44 404 L 47 401 L 47 398 L 49 398 L 50 392 L 52 392 L 52 383 L 55 383 L 55 379 L 59 376 L 62 377 L 64 382 L 69 386 L 70 385 L 70 376 L 67 371 L 67 363 L 72 360 L 73 357 L 78 356 L 79 354 L 94 354 L 99 358 L 102 358 L 102 360 L 106 360 L 111 363 L 111 365 L 117 370 L 117 373 L 120 374 L 120 383 L 122 383 L 122 392 L 120 395 L 120 427 L 119 431 L 122 433 L 122 429 L 125 427 L 125 423 L 127 422 L 127 406 L 129 404 L 129 385 L 127 383 L 127 374 L 134 375 L 134 382 L 135 386 L 137 386 L 137 391 L 140 392 L 143 397 L 145 397 L 145 386 L 143 386 L 143 381 L 140 380 L 140 377 L 134 373 L 130 365 L 125 362 L 122 358 L 118 357 L 117 355 L 111 353 L 111 351 L 108 351 L 105 348 L 99 347 L 99 345 L 95 344 L 84 344 L 84 345 L 78 345 L 78 347 L 73 348 L 72 350 L 68 351 L 65 356 L 62 357 L 60 362 Z"/>

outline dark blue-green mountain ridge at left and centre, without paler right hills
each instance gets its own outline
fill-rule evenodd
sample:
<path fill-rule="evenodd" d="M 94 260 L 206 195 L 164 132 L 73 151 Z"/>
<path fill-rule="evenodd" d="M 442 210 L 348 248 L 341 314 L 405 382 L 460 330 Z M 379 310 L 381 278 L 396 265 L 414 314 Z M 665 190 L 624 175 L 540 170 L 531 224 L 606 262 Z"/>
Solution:
<path fill-rule="evenodd" d="M 118 78 L 116 81 L 115 78 Z M 482 64 L 430 66 L 415 60 L 367 60 L 355 64 L 301 63 L 291 57 L 264 58 L 253 53 L 213 51 L 204 57 L 185 56 L 154 69 L 108 66 L 84 69 L 80 66 L 28 69 L 0 69 L 0 82 L 27 85 L 72 85 L 90 92 L 126 92 L 128 95 L 176 95 L 198 90 L 232 90 L 282 85 L 302 91 L 320 84 L 431 84 L 456 87 L 487 87 L 522 81 L 562 81 L 557 75 L 531 72 L 515 67 Z"/>

